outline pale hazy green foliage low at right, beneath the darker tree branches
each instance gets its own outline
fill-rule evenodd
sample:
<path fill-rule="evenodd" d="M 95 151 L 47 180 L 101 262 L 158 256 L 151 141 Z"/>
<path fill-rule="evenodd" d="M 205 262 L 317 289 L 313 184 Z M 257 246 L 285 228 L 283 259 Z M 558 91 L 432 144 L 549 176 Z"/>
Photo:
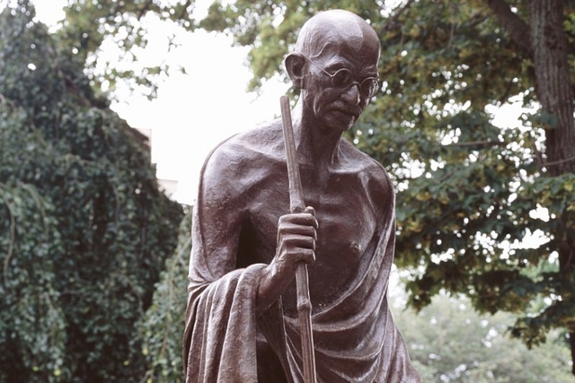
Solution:
<path fill-rule="evenodd" d="M 429 382 L 569 383 L 571 357 L 564 332 L 553 331 L 546 343 L 529 351 L 510 339 L 513 316 L 479 315 L 464 298 L 439 294 L 415 315 L 394 310 L 421 379 Z"/>

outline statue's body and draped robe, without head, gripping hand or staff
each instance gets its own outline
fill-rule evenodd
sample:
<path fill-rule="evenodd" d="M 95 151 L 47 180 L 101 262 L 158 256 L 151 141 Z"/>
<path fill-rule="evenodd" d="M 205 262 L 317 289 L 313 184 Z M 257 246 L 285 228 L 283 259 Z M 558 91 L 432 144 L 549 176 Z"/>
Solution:
<path fill-rule="evenodd" d="M 387 303 L 395 235 L 390 179 L 349 143 L 342 140 L 338 151 L 343 170 L 318 182 L 325 193 L 343 182 L 341 190 L 357 190 L 357 198 L 343 193 L 342 200 L 322 199 L 322 190 L 305 187 L 312 177 L 300 165 L 304 194 L 308 205 L 315 205 L 323 228 L 318 235 L 324 238 L 318 238 L 317 259 L 310 265 L 317 380 L 420 382 Z M 183 338 L 188 382 L 303 381 L 293 286 L 292 293 L 256 312 L 261 274 L 275 253 L 275 237 L 270 242 L 277 219 L 288 213 L 284 158 L 276 123 L 220 144 L 201 171 Z M 351 210 L 353 217 L 341 216 L 342 203 L 349 203 L 343 212 Z M 322 243 L 332 258 L 323 254 Z M 338 248 L 344 248 L 341 255 Z"/>

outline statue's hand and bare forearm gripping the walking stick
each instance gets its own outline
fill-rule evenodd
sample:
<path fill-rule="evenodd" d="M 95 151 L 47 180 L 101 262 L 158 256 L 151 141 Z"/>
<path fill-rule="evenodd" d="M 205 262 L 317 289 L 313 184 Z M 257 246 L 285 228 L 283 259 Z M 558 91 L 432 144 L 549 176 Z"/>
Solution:
<path fill-rule="evenodd" d="M 304 213 L 289 213 L 279 217 L 276 255 L 262 275 L 256 299 L 258 311 L 268 309 L 279 299 L 296 274 L 299 262 L 311 264 L 315 260 L 315 239 L 318 223 L 313 207 Z"/>

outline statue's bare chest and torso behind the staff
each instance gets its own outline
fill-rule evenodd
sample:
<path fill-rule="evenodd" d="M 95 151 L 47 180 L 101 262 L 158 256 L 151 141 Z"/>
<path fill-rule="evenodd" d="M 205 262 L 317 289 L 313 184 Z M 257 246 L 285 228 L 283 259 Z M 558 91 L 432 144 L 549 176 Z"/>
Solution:
<path fill-rule="evenodd" d="M 346 145 L 345 150 L 357 151 Z M 393 198 L 391 190 L 382 189 L 379 178 L 384 178 L 385 172 L 375 162 L 359 152 L 345 158 L 321 176 L 312 167 L 300 165 L 305 205 L 314 207 L 319 222 L 316 260 L 309 267 L 314 311 L 322 310 L 349 289 L 363 257 L 370 257 L 376 245 L 384 210 L 378 203 L 382 198 Z M 243 194 L 238 267 L 270 263 L 275 255 L 279 216 L 289 213 L 288 172 L 280 146 L 268 144 L 244 160 L 247 162 L 238 168 L 243 169 L 242 174 L 235 175 L 243 179 L 238 184 Z M 284 309 L 290 316 L 296 316 L 295 291 L 292 283 L 283 294 Z"/>

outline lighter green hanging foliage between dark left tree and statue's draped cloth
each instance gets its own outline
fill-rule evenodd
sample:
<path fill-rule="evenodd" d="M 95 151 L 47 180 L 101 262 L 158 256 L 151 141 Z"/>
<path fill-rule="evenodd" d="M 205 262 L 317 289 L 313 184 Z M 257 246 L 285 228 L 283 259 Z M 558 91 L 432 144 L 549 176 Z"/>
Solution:
<path fill-rule="evenodd" d="M 160 282 L 155 285 L 152 306 L 138 323 L 141 353 L 146 357 L 142 381 L 177 383 L 183 380 L 181 336 L 188 303 L 188 261 L 191 252 L 191 210 L 181 222 L 178 248 L 166 261 Z"/>

